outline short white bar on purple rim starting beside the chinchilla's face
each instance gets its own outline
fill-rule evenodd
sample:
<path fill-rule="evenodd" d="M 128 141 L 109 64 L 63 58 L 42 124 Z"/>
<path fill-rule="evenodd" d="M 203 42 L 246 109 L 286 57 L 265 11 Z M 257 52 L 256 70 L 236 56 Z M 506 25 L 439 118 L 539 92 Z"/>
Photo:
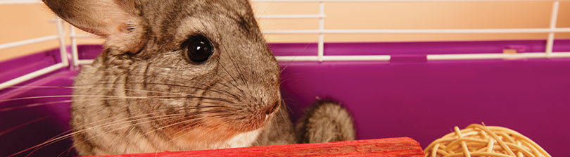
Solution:
<path fill-rule="evenodd" d="M 275 56 L 275 58 L 277 61 L 320 61 L 319 56 Z M 390 56 L 322 56 L 322 61 L 390 61 Z"/>

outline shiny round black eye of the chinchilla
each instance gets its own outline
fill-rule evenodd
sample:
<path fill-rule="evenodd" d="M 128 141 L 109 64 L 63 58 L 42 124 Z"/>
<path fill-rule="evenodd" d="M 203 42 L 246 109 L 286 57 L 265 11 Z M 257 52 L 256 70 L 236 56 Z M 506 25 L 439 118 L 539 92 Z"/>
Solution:
<path fill-rule="evenodd" d="M 202 63 L 214 54 L 214 48 L 210 44 L 210 40 L 203 35 L 190 37 L 182 43 L 182 46 L 187 49 L 186 58 L 196 63 Z"/>

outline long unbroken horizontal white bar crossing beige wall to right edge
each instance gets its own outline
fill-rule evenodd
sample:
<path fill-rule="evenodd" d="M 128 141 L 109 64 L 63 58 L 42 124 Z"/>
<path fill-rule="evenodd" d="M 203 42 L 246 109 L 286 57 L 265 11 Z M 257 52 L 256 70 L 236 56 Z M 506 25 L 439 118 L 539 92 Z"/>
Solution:
<path fill-rule="evenodd" d="M 564 28 L 508 28 L 508 29 L 408 29 L 408 30 L 265 30 L 265 34 L 458 34 L 458 33 L 549 33 L 570 32 Z"/>

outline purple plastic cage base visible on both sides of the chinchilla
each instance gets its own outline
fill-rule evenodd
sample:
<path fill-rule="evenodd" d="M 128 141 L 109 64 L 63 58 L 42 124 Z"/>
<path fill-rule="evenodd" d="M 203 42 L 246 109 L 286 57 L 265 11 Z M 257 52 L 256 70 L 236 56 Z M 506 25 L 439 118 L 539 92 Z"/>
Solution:
<path fill-rule="evenodd" d="M 486 123 L 509 127 L 543 146 L 552 156 L 570 156 L 570 58 L 473 61 L 398 59 L 399 54 L 500 53 L 502 49 L 540 51 L 545 41 L 409 42 L 327 44 L 327 55 L 393 54 L 393 61 L 284 62 L 281 91 L 293 118 L 318 96 L 341 101 L 355 118 L 359 139 L 412 137 L 422 146 L 456 125 Z M 270 44 L 275 54 L 307 55 L 316 44 Z M 101 46 L 79 47 L 80 58 L 94 58 Z M 557 40 L 555 51 L 570 51 Z M 357 52 L 357 53 L 352 53 Z M 361 53 L 361 54 L 358 54 Z M 42 55 L 39 55 L 42 54 Z M 30 63 L 55 63 L 58 51 L 0 63 L 9 80 L 38 69 Z M 314 53 L 313 53 L 314 54 Z M 51 62 L 50 62 L 51 61 Z M 40 64 L 44 67 L 46 65 Z M 20 69 L 18 69 L 20 68 Z M 18 69 L 18 70 L 15 70 Z M 4 70 L 2 70 L 4 71 Z M 0 91 L 0 100 L 66 95 L 77 71 L 58 70 Z M 42 88 L 34 87 L 42 86 Z M 58 88 L 46 88 L 56 86 Z M 69 98 L 0 101 L 0 156 L 42 144 L 69 130 Z M 48 104 L 46 104 L 48 103 Z M 23 107 L 20 106 L 31 106 Z M 49 144 L 32 156 L 72 156 L 70 140 Z"/>

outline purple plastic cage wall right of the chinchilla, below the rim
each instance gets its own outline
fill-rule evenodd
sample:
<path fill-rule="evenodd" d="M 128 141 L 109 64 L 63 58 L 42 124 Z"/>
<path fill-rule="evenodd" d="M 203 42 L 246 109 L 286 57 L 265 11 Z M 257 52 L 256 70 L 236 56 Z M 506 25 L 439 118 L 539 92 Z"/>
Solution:
<path fill-rule="evenodd" d="M 484 122 L 570 156 L 570 59 L 289 63 L 282 79 L 293 113 L 315 96 L 337 99 L 359 139 L 412 137 L 425 147 L 456 125 Z"/>

